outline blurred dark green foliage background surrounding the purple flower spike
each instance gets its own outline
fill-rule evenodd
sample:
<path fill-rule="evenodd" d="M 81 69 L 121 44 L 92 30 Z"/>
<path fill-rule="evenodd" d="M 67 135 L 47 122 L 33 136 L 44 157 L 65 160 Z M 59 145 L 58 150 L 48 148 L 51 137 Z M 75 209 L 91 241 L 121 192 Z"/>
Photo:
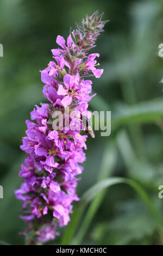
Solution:
<path fill-rule="evenodd" d="M 57 35 L 68 36 L 70 26 L 75 28 L 75 22 L 97 9 L 110 22 L 92 50 L 100 53 L 104 74 L 93 80 L 97 96 L 89 109 L 111 111 L 111 135 L 101 137 L 96 131 L 96 139 L 87 140 L 78 194 L 101 179 L 125 177 L 141 185 L 162 215 L 158 186 L 163 185 L 163 60 L 158 57 L 158 45 L 163 42 L 163 1 L 1 0 L 0 185 L 4 198 L 0 199 L 0 240 L 24 243 L 18 236 L 25 227 L 18 218 L 22 202 L 15 199 L 14 190 L 22 182 L 18 172 L 26 154 L 19 146 L 25 121 L 35 104 L 46 102 L 39 70 L 52 60 Z M 76 243 L 163 244 L 162 224 L 156 223 L 133 188 L 117 184 L 96 198 L 96 211 L 87 206 L 80 218 Z M 60 229 L 61 236 L 64 231 Z M 60 237 L 53 243 L 60 243 Z"/>

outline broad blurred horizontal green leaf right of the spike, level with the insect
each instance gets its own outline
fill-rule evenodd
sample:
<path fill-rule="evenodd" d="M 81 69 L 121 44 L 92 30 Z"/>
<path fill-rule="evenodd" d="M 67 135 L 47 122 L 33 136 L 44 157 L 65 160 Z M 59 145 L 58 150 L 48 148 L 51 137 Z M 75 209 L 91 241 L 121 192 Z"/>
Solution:
<path fill-rule="evenodd" d="M 163 117 L 163 97 L 131 106 L 117 102 L 114 109 L 101 96 L 96 95 L 92 98 L 90 106 L 97 111 L 112 111 L 112 129 L 126 124 L 154 123 Z"/>

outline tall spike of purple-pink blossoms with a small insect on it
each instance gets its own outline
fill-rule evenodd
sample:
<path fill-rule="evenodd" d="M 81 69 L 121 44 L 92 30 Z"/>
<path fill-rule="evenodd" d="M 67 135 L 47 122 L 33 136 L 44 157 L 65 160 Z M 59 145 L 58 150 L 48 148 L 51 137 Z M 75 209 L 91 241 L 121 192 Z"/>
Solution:
<path fill-rule="evenodd" d="M 101 19 L 98 11 L 87 16 L 83 27 L 77 25 L 76 31 L 70 31 L 67 46 L 65 39 L 58 35 L 57 44 L 61 48 L 52 50 L 54 60 L 40 71 L 41 81 L 45 83 L 43 95 L 49 103 L 35 106 L 32 121 L 26 121 L 27 137 L 23 137 L 21 149 L 28 156 L 19 174 L 24 182 L 15 191 L 16 198 L 23 200 L 20 217 L 27 223 L 27 229 L 21 234 L 30 245 L 53 240 L 59 235 L 57 226 L 67 225 L 72 202 L 79 200 L 77 175 L 83 171 L 80 163 L 85 161 L 83 149 L 86 149 L 87 135 L 80 135 L 79 127 L 54 130 L 52 119 L 56 111 L 65 114 L 66 107 L 90 117 L 87 107 L 94 95 L 90 96 L 92 82 L 87 77 L 98 78 L 103 69 L 97 69 L 95 58 L 99 54 L 88 55 L 87 51 L 95 46 L 106 23 Z M 68 118 L 76 119 L 75 115 Z"/>

